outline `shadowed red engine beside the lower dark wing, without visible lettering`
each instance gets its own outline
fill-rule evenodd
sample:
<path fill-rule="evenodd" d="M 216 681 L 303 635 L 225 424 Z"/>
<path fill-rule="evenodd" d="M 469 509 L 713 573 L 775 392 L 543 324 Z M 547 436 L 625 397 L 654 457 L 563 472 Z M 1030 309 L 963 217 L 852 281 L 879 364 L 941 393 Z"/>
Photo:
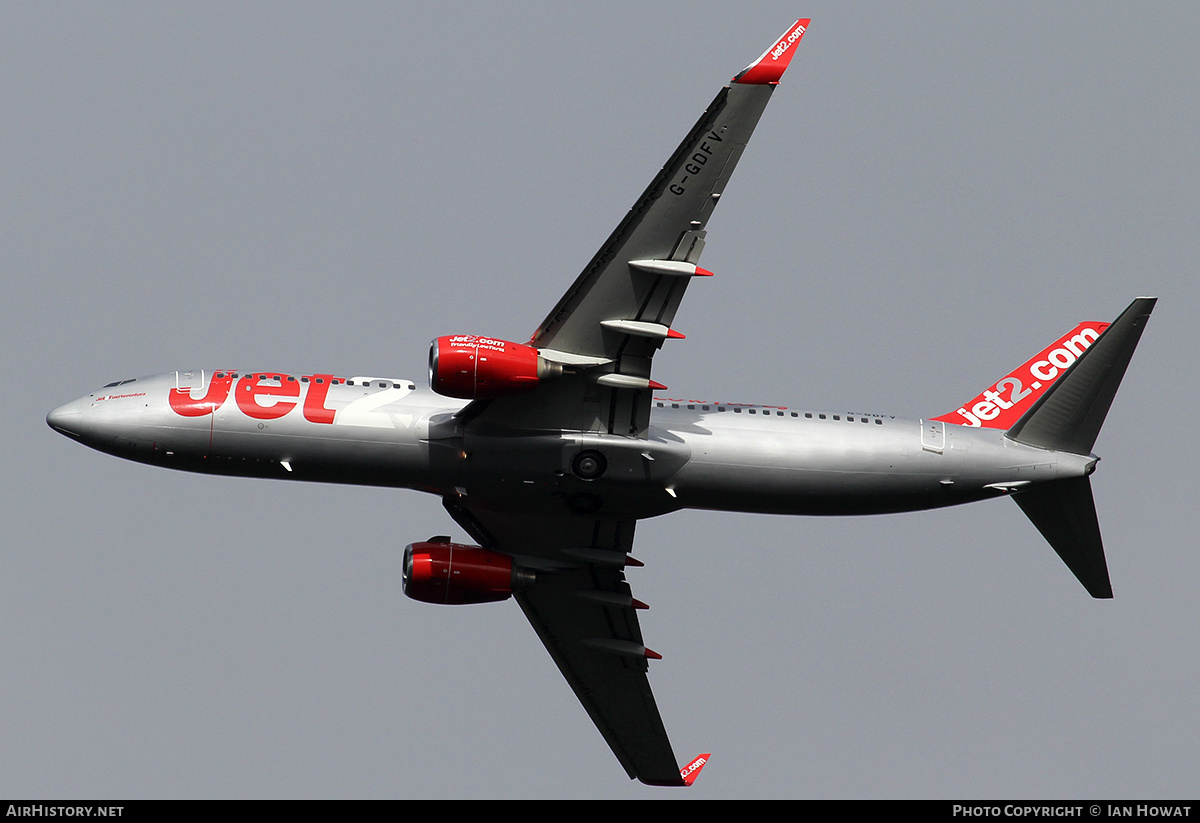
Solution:
<path fill-rule="evenodd" d="M 426 603 L 491 603 L 533 585 L 534 573 L 479 546 L 433 542 L 404 548 L 404 594 Z"/>

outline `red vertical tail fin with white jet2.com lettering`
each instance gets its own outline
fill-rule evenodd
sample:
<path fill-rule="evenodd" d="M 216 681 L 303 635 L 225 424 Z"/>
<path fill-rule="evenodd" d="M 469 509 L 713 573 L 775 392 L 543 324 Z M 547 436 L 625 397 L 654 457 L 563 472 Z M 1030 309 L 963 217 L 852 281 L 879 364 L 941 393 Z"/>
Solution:
<path fill-rule="evenodd" d="M 1108 323 L 1080 323 L 996 385 L 934 420 L 1008 431 L 1108 328 Z"/>

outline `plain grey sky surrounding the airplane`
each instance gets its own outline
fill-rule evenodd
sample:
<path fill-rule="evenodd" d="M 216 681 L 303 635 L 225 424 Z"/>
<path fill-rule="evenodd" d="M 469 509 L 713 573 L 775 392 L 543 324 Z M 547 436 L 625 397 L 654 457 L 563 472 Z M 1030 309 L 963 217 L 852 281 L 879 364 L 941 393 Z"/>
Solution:
<path fill-rule="evenodd" d="M 674 392 L 936 415 L 1160 298 L 1097 444 L 1116 599 L 1015 505 L 638 528 L 695 798 L 1195 797 L 1186 4 L 0 7 L 0 794 L 672 797 L 520 609 L 401 594 L 415 492 L 173 474 L 46 412 L 182 367 L 424 380 L 523 340 L 722 83 L 812 25 L 709 223 Z"/>

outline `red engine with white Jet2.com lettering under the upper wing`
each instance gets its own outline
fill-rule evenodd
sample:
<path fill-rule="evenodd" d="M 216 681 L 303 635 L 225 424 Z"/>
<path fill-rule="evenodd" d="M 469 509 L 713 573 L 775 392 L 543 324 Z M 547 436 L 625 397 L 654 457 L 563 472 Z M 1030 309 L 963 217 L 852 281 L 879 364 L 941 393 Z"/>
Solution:
<path fill-rule="evenodd" d="M 448 397 L 504 397 L 535 389 L 563 367 L 538 349 L 493 337 L 452 335 L 430 346 L 430 388 Z"/>

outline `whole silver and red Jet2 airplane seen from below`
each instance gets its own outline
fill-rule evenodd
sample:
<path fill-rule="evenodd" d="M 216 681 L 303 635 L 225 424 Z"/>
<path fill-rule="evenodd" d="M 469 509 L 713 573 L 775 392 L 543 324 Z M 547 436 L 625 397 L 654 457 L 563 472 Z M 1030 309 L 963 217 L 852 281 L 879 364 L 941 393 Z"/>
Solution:
<path fill-rule="evenodd" d="M 127 459 L 205 474 L 409 488 L 472 543 L 404 549 L 424 602 L 515 597 L 630 779 L 690 786 L 650 690 L 625 571 L 643 518 L 680 509 L 866 515 L 1012 497 L 1094 597 L 1111 597 L 1092 447 L 1154 298 L 1081 323 L 955 410 L 866 412 L 666 397 L 654 354 L 706 224 L 809 28 L 721 88 L 528 342 L 431 344 L 428 386 L 391 377 L 191 370 L 116 380 L 49 426 Z M 703 282 L 703 281 L 701 281 Z"/>

